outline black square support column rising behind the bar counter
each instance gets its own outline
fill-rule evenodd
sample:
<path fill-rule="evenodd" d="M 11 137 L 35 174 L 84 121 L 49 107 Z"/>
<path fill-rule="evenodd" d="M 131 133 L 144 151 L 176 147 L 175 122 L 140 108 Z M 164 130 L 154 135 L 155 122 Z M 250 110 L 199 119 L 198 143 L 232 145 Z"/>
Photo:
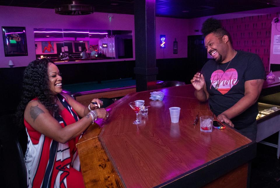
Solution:
<path fill-rule="evenodd" d="M 156 88 L 155 0 L 134 1 L 136 92 Z"/>

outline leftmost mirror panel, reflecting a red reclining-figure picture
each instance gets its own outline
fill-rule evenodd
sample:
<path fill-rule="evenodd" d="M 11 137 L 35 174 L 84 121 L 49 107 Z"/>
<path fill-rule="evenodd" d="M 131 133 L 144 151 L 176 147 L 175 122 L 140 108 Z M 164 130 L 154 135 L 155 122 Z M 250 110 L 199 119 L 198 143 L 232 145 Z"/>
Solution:
<path fill-rule="evenodd" d="M 36 58 L 48 57 L 53 61 L 58 60 L 58 51 L 63 47 L 62 29 L 34 29 Z"/>

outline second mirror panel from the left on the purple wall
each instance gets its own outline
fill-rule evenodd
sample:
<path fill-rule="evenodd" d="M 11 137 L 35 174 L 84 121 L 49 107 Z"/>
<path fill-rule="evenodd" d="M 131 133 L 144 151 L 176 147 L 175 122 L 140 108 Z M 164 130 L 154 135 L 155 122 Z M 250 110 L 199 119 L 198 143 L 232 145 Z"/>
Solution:
<path fill-rule="evenodd" d="M 89 31 L 88 29 L 63 29 L 65 61 L 89 60 Z"/>

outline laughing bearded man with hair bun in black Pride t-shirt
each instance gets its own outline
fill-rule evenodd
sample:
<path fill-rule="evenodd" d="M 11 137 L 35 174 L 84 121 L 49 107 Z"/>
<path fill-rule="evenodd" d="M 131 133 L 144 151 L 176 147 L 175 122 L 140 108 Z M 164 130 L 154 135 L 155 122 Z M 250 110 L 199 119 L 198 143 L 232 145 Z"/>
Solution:
<path fill-rule="evenodd" d="M 256 54 L 234 50 L 230 34 L 219 20 L 209 18 L 202 25 L 204 45 L 211 57 L 191 80 L 195 96 L 207 101 L 220 122 L 255 140 L 258 97 L 265 69 Z"/>

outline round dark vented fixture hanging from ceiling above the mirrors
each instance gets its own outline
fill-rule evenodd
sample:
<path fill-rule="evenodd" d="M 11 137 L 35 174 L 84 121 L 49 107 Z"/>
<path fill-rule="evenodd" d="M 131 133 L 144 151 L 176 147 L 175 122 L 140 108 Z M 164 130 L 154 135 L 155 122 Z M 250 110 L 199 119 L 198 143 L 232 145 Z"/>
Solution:
<path fill-rule="evenodd" d="M 55 13 L 60 15 L 87 15 L 94 13 L 94 7 L 81 4 L 79 1 L 72 1 L 72 4 L 60 5 L 55 8 Z"/>

